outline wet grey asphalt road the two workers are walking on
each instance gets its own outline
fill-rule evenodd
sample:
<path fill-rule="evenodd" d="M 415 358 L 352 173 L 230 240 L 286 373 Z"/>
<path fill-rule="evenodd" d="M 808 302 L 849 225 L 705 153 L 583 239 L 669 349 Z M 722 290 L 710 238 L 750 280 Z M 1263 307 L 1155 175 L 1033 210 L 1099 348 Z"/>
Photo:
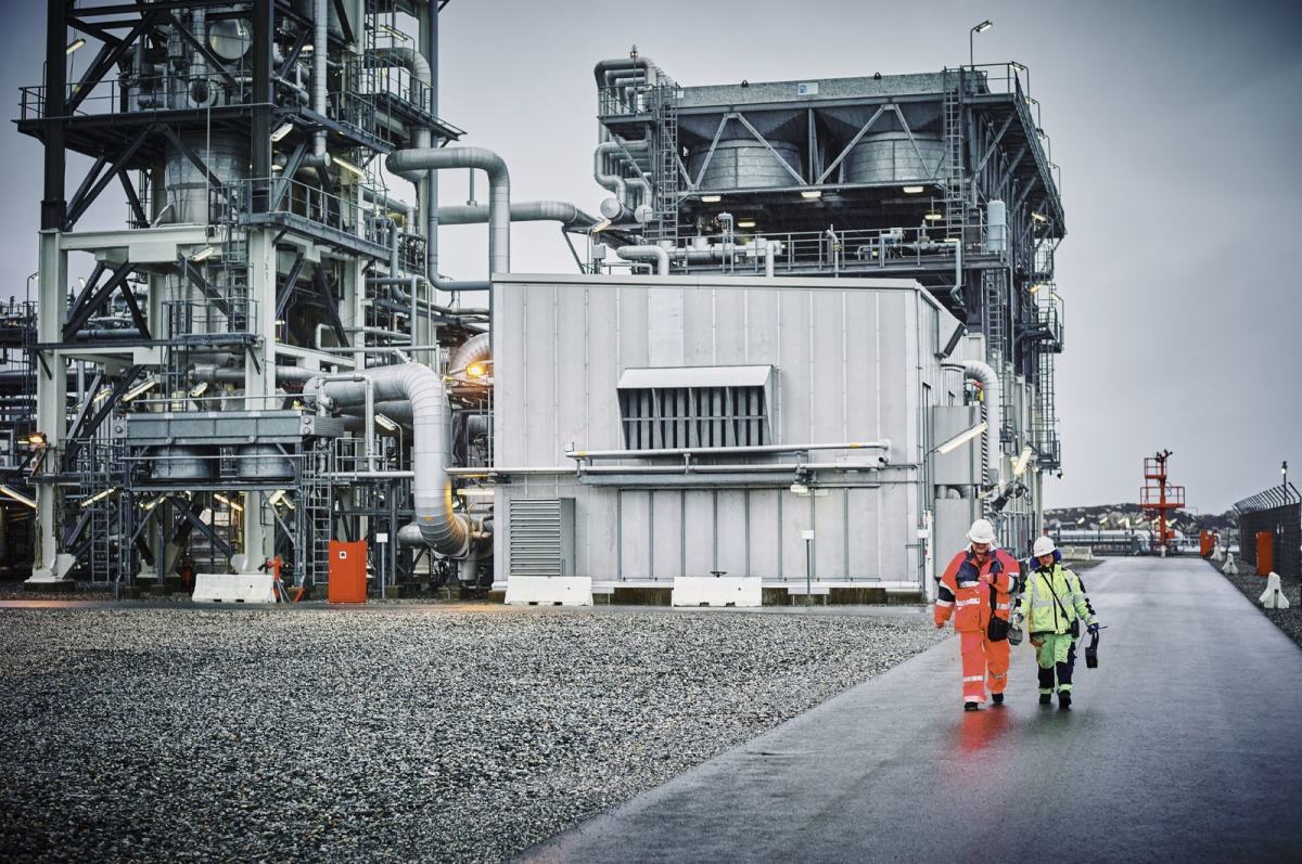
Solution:
<path fill-rule="evenodd" d="M 1302 651 L 1197 560 L 1086 574 L 1069 712 L 965 713 L 949 639 L 557 835 L 533 861 L 1302 859 Z"/>

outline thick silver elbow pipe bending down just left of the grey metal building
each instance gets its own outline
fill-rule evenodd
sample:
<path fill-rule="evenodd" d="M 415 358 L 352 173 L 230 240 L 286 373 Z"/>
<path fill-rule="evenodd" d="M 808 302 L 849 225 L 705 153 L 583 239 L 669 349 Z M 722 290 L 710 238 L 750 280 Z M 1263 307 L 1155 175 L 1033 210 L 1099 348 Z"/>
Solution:
<path fill-rule="evenodd" d="M 448 459 L 448 397 L 437 372 L 419 363 L 384 366 L 359 372 L 374 386 L 375 402 L 411 402 L 411 496 L 415 524 L 427 547 L 448 557 L 470 552 L 473 526 L 452 506 L 452 480 L 444 471 Z M 324 396 L 339 406 L 366 403 L 363 381 L 329 381 L 318 377 L 303 393 Z"/>

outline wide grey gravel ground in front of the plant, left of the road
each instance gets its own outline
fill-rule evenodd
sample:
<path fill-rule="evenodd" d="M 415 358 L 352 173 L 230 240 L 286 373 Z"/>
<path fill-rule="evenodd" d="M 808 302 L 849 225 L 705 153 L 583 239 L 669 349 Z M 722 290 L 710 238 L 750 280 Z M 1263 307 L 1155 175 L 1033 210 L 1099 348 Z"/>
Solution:
<path fill-rule="evenodd" d="M 931 615 L 0 609 L 0 860 L 501 860 Z"/>

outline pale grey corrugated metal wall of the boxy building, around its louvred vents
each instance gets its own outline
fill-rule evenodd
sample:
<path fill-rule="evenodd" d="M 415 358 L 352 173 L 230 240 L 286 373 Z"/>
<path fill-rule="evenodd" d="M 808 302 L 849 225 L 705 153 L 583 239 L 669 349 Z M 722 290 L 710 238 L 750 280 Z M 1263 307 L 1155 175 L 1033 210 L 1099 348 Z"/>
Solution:
<path fill-rule="evenodd" d="M 737 277 L 513 277 L 493 289 L 496 465 L 573 468 L 564 450 L 622 449 L 625 368 L 772 364 L 779 444 L 889 439 L 898 467 L 771 488 L 618 488 L 521 476 L 517 497 L 575 498 L 575 571 L 665 580 L 711 570 L 805 578 L 812 528 L 823 580 L 919 578 L 923 384 L 940 390 L 937 340 L 956 321 L 911 281 Z M 811 454 L 854 461 L 863 452 Z M 630 461 L 637 465 L 637 461 Z M 509 573 L 509 520 L 496 571 Z M 499 576 L 501 578 L 501 576 Z"/>

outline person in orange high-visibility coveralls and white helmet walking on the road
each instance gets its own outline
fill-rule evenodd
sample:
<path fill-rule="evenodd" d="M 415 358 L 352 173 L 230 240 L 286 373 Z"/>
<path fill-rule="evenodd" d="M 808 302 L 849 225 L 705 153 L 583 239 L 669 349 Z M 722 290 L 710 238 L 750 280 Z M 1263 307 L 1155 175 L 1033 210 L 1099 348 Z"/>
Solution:
<path fill-rule="evenodd" d="M 976 519 L 967 531 L 971 544 L 954 556 L 940 578 L 936 595 L 936 628 L 954 614 L 963 656 L 963 710 L 976 710 L 986 701 L 986 684 L 996 705 L 1004 704 L 1008 687 L 1008 619 L 1012 593 L 1021 573 L 1017 560 L 995 548 L 995 527 Z M 999 621 L 993 625 L 992 618 Z"/>

